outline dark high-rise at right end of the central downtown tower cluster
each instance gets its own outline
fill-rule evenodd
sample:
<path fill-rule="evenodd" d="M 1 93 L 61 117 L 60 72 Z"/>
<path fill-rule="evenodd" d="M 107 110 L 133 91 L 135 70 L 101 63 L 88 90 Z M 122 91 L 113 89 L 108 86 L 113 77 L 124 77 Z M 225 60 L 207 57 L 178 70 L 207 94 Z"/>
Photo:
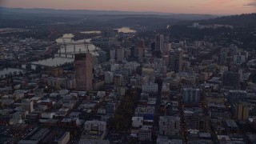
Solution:
<path fill-rule="evenodd" d="M 169 53 L 169 64 L 170 69 L 174 70 L 175 73 L 182 71 L 183 61 L 183 50 L 181 48 L 178 48 L 178 50 L 170 51 Z"/>

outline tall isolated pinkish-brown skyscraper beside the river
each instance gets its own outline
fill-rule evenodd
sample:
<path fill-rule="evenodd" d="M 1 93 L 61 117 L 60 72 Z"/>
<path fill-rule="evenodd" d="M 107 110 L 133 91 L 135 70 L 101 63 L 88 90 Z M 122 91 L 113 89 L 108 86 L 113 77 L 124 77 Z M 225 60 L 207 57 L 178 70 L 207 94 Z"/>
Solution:
<path fill-rule="evenodd" d="M 90 53 L 74 55 L 74 75 L 77 90 L 92 90 L 92 55 Z"/>

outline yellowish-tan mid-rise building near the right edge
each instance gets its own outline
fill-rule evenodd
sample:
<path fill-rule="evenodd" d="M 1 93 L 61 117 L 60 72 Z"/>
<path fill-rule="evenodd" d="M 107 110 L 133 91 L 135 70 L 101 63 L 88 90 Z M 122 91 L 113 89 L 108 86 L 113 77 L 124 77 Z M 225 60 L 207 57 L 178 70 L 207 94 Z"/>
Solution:
<path fill-rule="evenodd" d="M 249 118 L 249 106 L 247 102 L 238 102 L 237 118 L 238 120 L 247 120 Z"/>

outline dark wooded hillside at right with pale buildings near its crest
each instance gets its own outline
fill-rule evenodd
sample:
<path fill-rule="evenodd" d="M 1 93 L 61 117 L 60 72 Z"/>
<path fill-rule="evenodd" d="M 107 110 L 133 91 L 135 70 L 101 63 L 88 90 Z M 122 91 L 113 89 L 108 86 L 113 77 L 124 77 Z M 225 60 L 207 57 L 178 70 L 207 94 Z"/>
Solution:
<path fill-rule="evenodd" d="M 193 22 L 198 22 L 199 25 L 230 25 L 234 26 L 234 28 L 197 29 L 189 27 Z M 192 40 L 208 38 L 212 42 L 222 43 L 222 46 L 235 44 L 245 50 L 254 50 L 256 46 L 256 14 L 231 15 L 207 20 L 178 22 L 171 26 L 168 32 L 172 38 L 189 38 Z"/>

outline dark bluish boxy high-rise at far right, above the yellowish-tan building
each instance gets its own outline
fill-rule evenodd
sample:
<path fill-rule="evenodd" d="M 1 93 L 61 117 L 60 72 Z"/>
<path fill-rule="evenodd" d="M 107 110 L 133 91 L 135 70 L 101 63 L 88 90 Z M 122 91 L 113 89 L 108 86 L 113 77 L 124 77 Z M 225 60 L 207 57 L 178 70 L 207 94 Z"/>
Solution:
<path fill-rule="evenodd" d="M 233 71 L 225 71 L 223 74 L 223 87 L 237 89 L 239 87 L 240 74 Z"/>

